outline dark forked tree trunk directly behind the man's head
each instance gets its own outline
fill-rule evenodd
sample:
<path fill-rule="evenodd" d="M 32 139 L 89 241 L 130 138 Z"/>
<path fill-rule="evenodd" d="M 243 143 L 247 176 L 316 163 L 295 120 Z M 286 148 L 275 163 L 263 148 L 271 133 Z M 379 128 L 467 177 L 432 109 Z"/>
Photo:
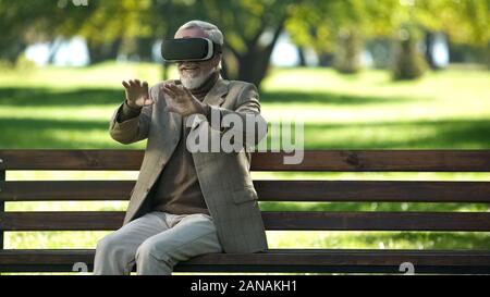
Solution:
<path fill-rule="evenodd" d="M 206 17 L 223 28 L 228 76 L 260 86 L 284 24 L 298 0 L 200 1 Z"/>

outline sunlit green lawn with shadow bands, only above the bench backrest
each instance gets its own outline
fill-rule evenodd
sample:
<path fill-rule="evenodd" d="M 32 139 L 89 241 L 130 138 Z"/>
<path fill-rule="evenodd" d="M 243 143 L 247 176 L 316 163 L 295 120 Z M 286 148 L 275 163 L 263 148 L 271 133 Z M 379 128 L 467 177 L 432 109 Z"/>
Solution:
<path fill-rule="evenodd" d="M 174 72 L 172 72 L 174 73 Z M 0 74 L 1 148 L 143 148 L 107 134 L 122 79 L 157 83 L 152 64 L 101 64 Z M 272 70 L 261 91 L 269 122 L 305 124 L 306 148 L 490 147 L 490 73 L 450 70 L 417 82 L 388 73 L 354 76 L 324 69 Z"/>

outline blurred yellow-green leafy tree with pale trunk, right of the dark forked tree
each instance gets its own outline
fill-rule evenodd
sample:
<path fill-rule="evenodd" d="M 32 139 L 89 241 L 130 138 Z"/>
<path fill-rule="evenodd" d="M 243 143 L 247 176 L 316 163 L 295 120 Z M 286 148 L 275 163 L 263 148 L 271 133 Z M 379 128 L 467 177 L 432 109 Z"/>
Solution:
<path fill-rule="evenodd" d="M 310 0 L 296 9 L 286 29 L 299 46 L 320 55 L 333 52 L 341 73 L 355 73 L 365 39 L 390 36 L 399 13 L 397 0 Z"/>

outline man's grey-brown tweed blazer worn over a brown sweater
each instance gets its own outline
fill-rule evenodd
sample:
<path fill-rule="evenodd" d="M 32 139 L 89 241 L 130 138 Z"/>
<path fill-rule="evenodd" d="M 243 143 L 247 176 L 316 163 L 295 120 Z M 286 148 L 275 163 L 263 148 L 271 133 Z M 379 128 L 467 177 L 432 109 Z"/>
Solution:
<path fill-rule="evenodd" d="M 163 83 L 151 87 L 150 96 L 155 103 L 144 107 L 139 116 L 118 123 L 115 119 L 121 112 L 121 104 L 110 123 L 111 137 L 121 144 L 133 144 L 148 138 L 124 224 L 150 210 L 148 199 L 150 189 L 181 137 L 182 116 L 164 111 L 168 99 L 159 91 Z M 204 102 L 210 106 L 211 112 L 220 112 L 221 115 L 234 113 L 242 119 L 247 114 L 254 114 L 257 121 L 261 122 L 256 124 L 267 125 L 260 115 L 258 91 L 253 84 L 220 78 L 207 94 Z M 209 122 L 206 120 L 197 121 L 192 127 L 192 129 L 199 128 L 221 134 L 230 129 L 209 129 Z M 248 127 L 243 125 L 231 128 L 241 129 L 233 133 L 246 134 Z M 267 131 L 255 135 L 255 143 L 261 140 Z M 250 153 L 245 150 L 229 153 L 194 152 L 193 159 L 206 205 L 224 251 L 255 252 L 267 249 L 257 193 L 249 174 Z"/>

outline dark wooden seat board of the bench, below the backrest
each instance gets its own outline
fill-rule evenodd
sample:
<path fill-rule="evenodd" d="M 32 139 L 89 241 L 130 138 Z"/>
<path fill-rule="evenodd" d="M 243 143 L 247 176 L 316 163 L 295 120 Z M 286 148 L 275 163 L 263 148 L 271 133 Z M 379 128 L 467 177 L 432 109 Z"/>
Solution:
<path fill-rule="evenodd" d="M 94 263 L 95 250 L 2 250 L 0 271 L 71 271 L 75 262 Z M 384 271 L 412 262 L 416 272 L 490 272 L 490 251 L 269 249 L 258 253 L 208 253 L 179 263 L 174 271 Z"/>

